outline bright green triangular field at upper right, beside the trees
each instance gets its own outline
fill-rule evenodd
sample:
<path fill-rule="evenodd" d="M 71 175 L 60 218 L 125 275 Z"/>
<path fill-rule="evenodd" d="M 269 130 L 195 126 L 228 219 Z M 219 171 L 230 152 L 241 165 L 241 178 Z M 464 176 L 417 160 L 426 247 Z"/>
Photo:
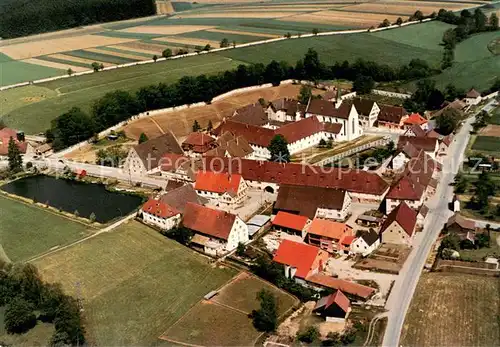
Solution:
<path fill-rule="evenodd" d="M 397 30 L 385 30 L 370 35 L 417 48 L 441 52 L 443 47 L 440 43 L 443 38 L 443 33 L 453 27 L 454 25 L 451 24 L 433 21 L 425 25 L 409 25 Z"/>

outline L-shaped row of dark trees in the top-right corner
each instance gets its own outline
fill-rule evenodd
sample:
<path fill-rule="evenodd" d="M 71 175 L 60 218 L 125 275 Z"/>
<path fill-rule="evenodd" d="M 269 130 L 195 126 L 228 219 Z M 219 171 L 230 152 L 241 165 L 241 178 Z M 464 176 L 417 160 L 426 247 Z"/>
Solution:
<path fill-rule="evenodd" d="M 459 42 L 462 42 L 472 34 L 498 30 L 497 14 L 493 12 L 488 19 L 479 8 L 476 8 L 474 13 L 463 10 L 460 12 L 460 15 L 455 14 L 453 11 L 441 9 L 436 18 L 442 22 L 456 25 L 455 28 L 450 28 L 443 34 L 444 52 L 441 61 L 442 69 L 453 65 L 455 47 Z"/>

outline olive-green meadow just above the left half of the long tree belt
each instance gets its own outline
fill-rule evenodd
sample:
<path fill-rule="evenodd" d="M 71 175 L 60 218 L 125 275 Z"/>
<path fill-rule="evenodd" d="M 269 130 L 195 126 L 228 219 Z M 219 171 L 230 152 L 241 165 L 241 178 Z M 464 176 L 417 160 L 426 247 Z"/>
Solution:
<path fill-rule="evenodd" d="M 60 93 L 57 97 L 12 110 L 8 116 L 4 116 L 4 120 L 8 126 L 22 129 L 27 134 L 38 133 L 48 129 L 52 119 L 71 107 L 81 107 L 88 112 L 92 103 L 107 92 L 117 89 L 134 92 L 150 84 L 172 83 L 186 75 L 216 73 L 235 68 L 239 64 L 240 62 L 209 54 L 47 82 L 39 86 L 57 90 Z M 24 88 L 20 88 L 19 93 L 24 93 Z M 6 101 L 11 102 L 9 99 Z"/>

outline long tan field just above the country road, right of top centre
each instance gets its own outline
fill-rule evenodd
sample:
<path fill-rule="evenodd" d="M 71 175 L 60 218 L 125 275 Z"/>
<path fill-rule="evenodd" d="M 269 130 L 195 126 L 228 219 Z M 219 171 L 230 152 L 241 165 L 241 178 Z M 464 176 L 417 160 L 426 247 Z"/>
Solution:
<path fill-rule="evenodd" d="M 344 11 L 320 11 L 314 13 L 300 14 L 297 16 L 286 17 L 287 21 L 296 22 L 313 22 L 322 24 L 358 24 L 358 25 L 378 25 L 384 19 L 393 22 L 398 18 L 397 15 L 389 14 L 375 14 L 375 13 L 362 13 L 359 12 L 344 12 Z M 280 20 L 285 20 L 284 18 Z"/>

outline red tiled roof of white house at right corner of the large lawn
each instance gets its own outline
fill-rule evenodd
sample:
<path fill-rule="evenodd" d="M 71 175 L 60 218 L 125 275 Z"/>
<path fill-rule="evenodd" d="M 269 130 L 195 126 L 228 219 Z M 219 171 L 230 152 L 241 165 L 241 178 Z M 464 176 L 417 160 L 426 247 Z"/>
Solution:
<path fill-rule="evenodd" d="M 235 220 L 234 214 L 188 202 L 182 224 L 195 232 L 227 240 Z"/>

